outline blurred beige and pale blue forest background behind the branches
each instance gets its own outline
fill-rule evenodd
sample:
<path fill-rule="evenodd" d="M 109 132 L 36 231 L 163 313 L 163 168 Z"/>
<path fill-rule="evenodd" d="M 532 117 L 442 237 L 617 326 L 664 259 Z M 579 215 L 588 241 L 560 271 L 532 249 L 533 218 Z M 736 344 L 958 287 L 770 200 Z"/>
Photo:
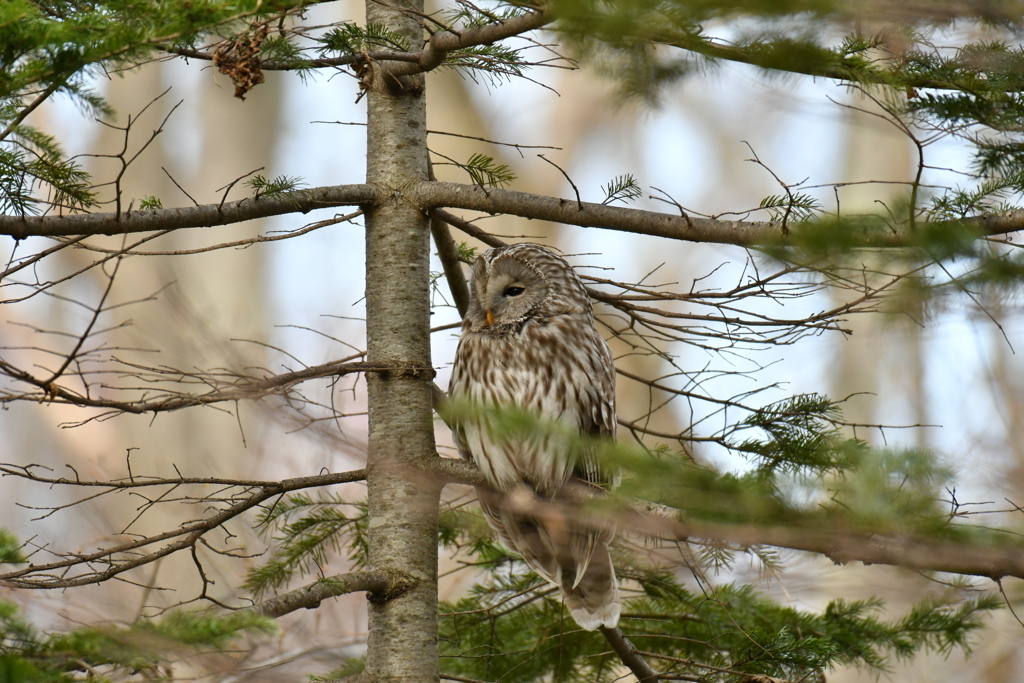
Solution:
<path fill-rule="evenodd" d="M 361 3 L 350 2 L 310 11 L 314 16 L 325 13 L 325 22 L 338 18 L 327 12 L 361 22 L 360 8 Z M 428 111 L 428 126 L 432 131 L 560 150 L 517 150 L 439 134 L 431 135 L 431 150 L 455 159 L 487 154 L 513 169 L 517 189 L 571 197 L 572 189 L 559 171 L 537 156 L 544 154 L 565 169 L 583 199 L 590 201 L 600 201 L 600 185 L 608 179 L 632 173 L 641 185 L 659 187 L 687 209 L 708 214 L 750 210 L 765 196 L 779 191 L 776 180 L 749 161 L 752 150 L 790 183 L 804 178 L 809 185 L 891 181 L 897 183 L 891 185 L 895 197 L 901 187 L 898 183 L 911 180 L 914 172 L 916 152 L 910 140 L 874 116 L 870 100 L 833 82 L 809 77 L 766 82 L 754 68 L 723 63 L 697 70 L 652 108 L 625 101 L 613 84 L 594 70 L 570 77 L 558 69 L 536 70 L 530 76 L 540 83 L 475 83 L 451 70 L 430 73 L 429 101 L 434 109 Z M 338 123 L 365 120 L 365 104 L 355 102 L 356 84 L 347 76 L 313 76 L 303 83 L 294 75 L 268 72 L 266 82 L 242 101 L 232 97 L 230 81 L 215 68 L 175 59 L 111 74 L 97 79 L 95 87 L 117 111 L 112 123 L 124 126 L 132 117 L 129 148 L 138 148 L 167 119 L 163 132 L 126 176 L 126 196 L 136 202 L 144 196 L 161 198 L 164 206 L 185 205 L 189 200 L 214 202 L 220 197 L 218 188 L 254 169 L 264 169 L 260 173 L 267 177 L 298 176 L 309 186 L 360 182 L 364 177 L 364 129 Z M 175 111 L 180 100 L 187 106 Z M 115 154 L 125 144 L 122 130 L 93 122 L 59 99 L 46 102 L 29 122 L 63 140 L 69 155 L 96 155 L 87 162 L 94 177 L 118 172 L 119 162 L 103 155 Z M 936 167 L 953 165 L 950 160 L 963 167 L 967 158 L 967 152 L 952 142 L 927 152 L 929 163 Z M 434 161 L 443 159 L 437 156 Z M 451 167 L 438 165 L 435 170 L 439 179 L 463 179 Z M 940 169 L 929 170 L 924 178 L 926 184 L 936 185 L 956 181 Z M 816 191 L 825 207 L 841 202 L 844 213 L 884 210 L 867 199 L 879 196 L 877 185 L 869 191 L 857 184 L 836 193 L 830 187 L 809 191 Z M 664 204 L 646 196 L 636 206 L 665 210 Z M 585 272 L 601 275 L 602 268 L 614 268 L 617 280 L 635 281 L 657 268 L 652 278 L 659 282 L 689 283 L 707 276 L 705 286 L 720 283 L 724 287 L 737 281 L 751 259 L 733 247 L 569 231 L 515 218 L 497 220 L 502 223 L 487 223 L 493 231 L 557 246 L 578 254 L 571 260 L 591 268 Z M 300 217 L 288 216 L 226 231 L 218 228 L 216 242 L 295 229 L 299 221 Z M 179 230 L 143 249 L 201 249 L 213 240 L 205 230 Z M 112 240 L 111 244 L 119 243 Z M 10 243 L 5 244 L 4 250 L 9 247 Z M 338 340 L 358 348 L 365 342 L 358 321 L 364 314 L 362 249 L 359 228 L 340 224 L 276 244 L 187 257 L 128 259 L 121 267 L 130 272 L 120 279 L 121 289 L 115 287 L 115 298 L 146 300 L 119 311 L 118 319 L 130 318 L 131 326 L 117 331 L 112 343 L 116 340 L 118 346 L 134 349 L 125 350 L 126 355 L 159 348 L 160 355 L 150 357 L 151 362 L 180 368 L 294 369 L 299 361 L 313 365 L 347 355 L 352 349 Z M 79 257 L 87 255 L 63 250 L 40 267 L 74 269 L 74 259 Z M 710 264 L 721 261 L 728 264 L 712 272 Z M 44 276 L 48 275 L 40 274 Z M 96 270 L 73 283 L 80 300 L 95 299 L 104 286 L 105 280 Z M 443 281 L 438 288 L 437 301 L 443 303 Z M 804 300 L 787 305 L 810 310 L 826 308 L 828 302 Z M 932 302 L 915 316 L 855 317 L 849 326 L 852 334 L 845 337 L 830 333 L 732 360 L 734 370 L 740 372 L 755 365 L 763 367 L 756 380 L 733 375 L 719 381 L 723 387 L 735 385 L 732 393 L 753 388 L 755 381 L 778 383 L 778 389 L 763 395 L 766 401 L 827 390 L 835 398 L 851 396 L 845 415 L 852 422 L 923 425 L 858 429 L 857 435 L 877 444 L 934 449 L 956 473 L 956 500 L 1002 501 L 1024 489 L 1024 367 L 1015 353 L 1024 349 L 1019 305 L 1016 300 L 949 298 Z M 36 297 L 13 312 L 8 308 L 0 308 L 0 337 L 8 347 L 35 345 L 39 330 L 78 329 L 90 314 L 52 296 Z M 797 312 L 792 317 L 798 317 Z M 457 322 L 458 314 L 441 306 L 434 318 L 435 326 L 442 326 Z M 442 368 L 437 382 L 442 387 L 447 381 L 443 368 L 454 355 L 456 335 L 457 331 L 434 335 L 435 365 Z M 679 365 L 684 368 L 721 364 L 721 358 L 699 348 L 677 350 L 683 354 Z M 657 372 L 656 358 L 624 362 L 627 369 L 635 364 L 644 373 Z M 350 419 L 310 422 L 271 397 L 238 405 L 237 416 L 210 408 L 161 414 L 156 419 L 123 415 L 57 429 L 81 416 L 75 409 L 59 405 L 16 403 L 0 413 L 0 442 L 4 444 L 0 460 L 39 463 L 65 473 L 70 464 L 90 479 L 125 476 L 129 461 L 136 475 L 171 476 L 176 468 L 185 475 L 261 479 L 358 467 L 365 438 L 365 432 L 360 433 L 365 429 L 361 380 L 343 378 L 333 389 L 317 386 L 307 388 L 308 399 L 333 401 Z M 636 415 L 645 412 L 645 392 L 629 383 L 621 383 L 618 391 L 624 417 L 630 417 L 631 405 L 637 407 Z M 658 419 L 681 423 L 690 416 L 663 412 Z M 678 424 L 672 427 L 666 425 L 669 431 L 680 429 Z M 439 443 L 449 449 L 442 453 L 451 455 L 446 431 L 438 423 Z M 711 460 L 726 457 L 717 451 L 701 455 Z M 744 467 L 740 460 L 719 462 L 726 468 Z M 454 500 L 467 492 L 450 486 L 446 496 Z M 70 502 L 61 498 L 65 495 L 4 478 L 0 480 L 0 518 L 34 544 L 88 547 L 121 531 L 139 504 L 128 495 L 109 497 L 100 505 L 57 512 L 45 525 L 30 523 L 43 513 L 25 506 Z M 167 528 L 168 519 L 161 515 L 170 511 L 161 506 L 132 528 L 136 532 Z M 187 517 L 188 511 L 182 511 L 182 519 Z M 43 528 L 50 536 L 36 536 Z M 253 541 L 253 548 L 260 547 L 261 542 Z M 840 568 L 823 558 L 808 559 L 796 553 L 784 559 L 790 568 L 782 577 L 765 580 L 756 568 L 739 566 L 720 579 L 746 579 L 784 603 L 812 609 L 839 596 L 881 595 L 893 613 L 944 589 L 905 569 L 859 563 Z M 206 571 L 215 582 L 211 594 L 238 596 L 245 570 L 253 561 L 205 560 Z M 344 568 L 332 565 L 331 571 Z M 442 562 L 442 572 L 444 568 Z M 466 572 L 442 578 L 441 599 L 458 597 L 471 579 Z M 979 586 L 984 583 L 976 581 Z M 175 556 L 156 566 L 148 586 L 111 582 L 63 593 L 4 592 L 3 597 L 22 604 L 40 627 L 62 628 L 155 614 L 161 607 L 194 596 L 198 584 L 189 559 Z M 157 586 L 176 590 L 157 590 Z M 1019 582 L 1008 582 L 1005 588 L 1011 600 L 1024 597 Z M 196 675 L 213 675 L 218 681 L 259 681 L 333 668 L 345 655 L 359 651 L 366 629 L 365 601 L 362 595 L 349 595 L 314 612 L 290 614 L 282 620 L 281 634 L 274 640 L 260 641 L 246 657 L 198 660 Z M 338 648 L 339 634 L 351 644 L 349 649 Z M 965 660 L 959 652 L 948 660 L 923 656 L 906 668 L 897 666 L 891 679 L 906 683 L 1024 680 L 1022 644 L 1024 626 L 1002 610 L 994 614 L 972 658 Z M 267 673 L 268 667 L 289 661 L 289 671 Z M 828 680 L 852 683 L 874 680 L 874 674 L 842 671 L 830 674 Z"/>

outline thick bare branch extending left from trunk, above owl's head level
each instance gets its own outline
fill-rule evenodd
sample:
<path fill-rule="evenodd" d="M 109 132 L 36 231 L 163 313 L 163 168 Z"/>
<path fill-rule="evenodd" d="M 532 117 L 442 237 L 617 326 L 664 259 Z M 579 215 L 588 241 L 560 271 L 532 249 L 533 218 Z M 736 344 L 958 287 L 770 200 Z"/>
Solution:
<path fill-rule="evenodd" d="M 0 216 L 0 234 L 25 240 L 29 237 L 123 234 L 183 227 L 212 227 L 288 213 L 308 213 L 314 209 L 374 204 L 384 196 L 374 185 L 335 185 L 300 189 L 274 197 L 246 198 L 226 204 L 133 211 L 123 213 L 120 217 L 113 212 L 71 216 Z"/>

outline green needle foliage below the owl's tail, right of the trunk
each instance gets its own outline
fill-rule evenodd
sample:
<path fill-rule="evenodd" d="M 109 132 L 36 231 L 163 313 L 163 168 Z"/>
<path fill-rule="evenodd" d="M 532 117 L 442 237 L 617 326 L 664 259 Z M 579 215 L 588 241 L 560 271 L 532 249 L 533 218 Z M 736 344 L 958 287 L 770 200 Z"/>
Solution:
<path fill-rule="evenodd" d="M 622 675 L 601 635 L 575 626 L 556 589 L 519 560 L 474 545 L 473 535 L 467 533 L 466 560 L 479 560 L 484 580 L 467 597 L 441 605 L 444 673 L 523 682 L 614 681 Z M 749 585 L 701 580 L 687 586 L 675 571 L 629 566 L 630 557 L 615 557 L 623 630 L 666 672 L 700 681 L 750 675 L 813 680 L 837 665 L 883 673 L 923 651 L 970 651 L 985 613 L 1000 605 L 993 596 L 950 595 L 892 620 L 882 617 L 881 600 L 836 600 L 822 612 L 808 612 L 781 606 Z"/>

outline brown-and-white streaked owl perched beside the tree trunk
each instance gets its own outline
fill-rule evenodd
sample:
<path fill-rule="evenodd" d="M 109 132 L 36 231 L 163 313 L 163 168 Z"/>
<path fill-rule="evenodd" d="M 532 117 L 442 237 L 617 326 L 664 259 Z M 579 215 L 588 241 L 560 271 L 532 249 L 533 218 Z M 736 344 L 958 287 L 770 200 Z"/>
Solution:
<path fill-rule="evenodd" d="M 503 438 L 485 416 L 467 417 L 456 425 L 456 445 L 489 483 L 477 495 L 490 527 L 561 590 L 572 617 L 588 631 L 618 623 L 608 554 L 614 528 L 525 517 L 502 501 L 520 486 L 556 501 L 572 478 L 604 482 L 596 458 L 573 455 L 580 449 L 569 441 L 572 433 L 614 436 L 614 380 L 590 297 L 564 259 L 532 244 L 492 249 L 476 259 L 451 397 L 477 407 L 515 407 L 565 429 Z"/>

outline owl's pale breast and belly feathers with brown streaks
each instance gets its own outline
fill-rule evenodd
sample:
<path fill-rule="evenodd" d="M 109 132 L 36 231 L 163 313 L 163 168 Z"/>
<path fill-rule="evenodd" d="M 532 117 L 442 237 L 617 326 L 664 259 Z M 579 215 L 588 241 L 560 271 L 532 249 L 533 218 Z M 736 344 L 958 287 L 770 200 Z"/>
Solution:
<path fill-rule="evenodd" d="M 583 315 L 528 321 L 506 334 L 464 330 L 452 377 L 453 398 L 480 407 L 516 407 L 581 434 L 615 431 L 613 365 L 607 344 Z M 493 416 L 467 419 L 457 430 L 460 455 L 472 460 L 497 490 L 529 483 L 554 496 L 569 477 L 602 480 L 586 453 L 573 458 L 572 435 L 553 428 L 537 436 L 502 438 Z"/>

